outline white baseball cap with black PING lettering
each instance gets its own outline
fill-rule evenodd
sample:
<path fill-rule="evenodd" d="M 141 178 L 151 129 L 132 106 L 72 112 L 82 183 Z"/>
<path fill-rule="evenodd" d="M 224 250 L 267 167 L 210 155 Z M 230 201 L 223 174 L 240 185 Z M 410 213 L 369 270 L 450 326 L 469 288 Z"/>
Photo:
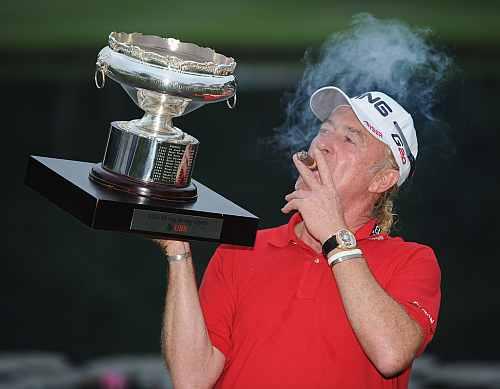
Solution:
<path fill-rule="evenodd" d="M 322 122 L 338 106 L 349 105 L 368 132 L 391 149 L 399 166 L 398 186 L 413 174 L 418 153 L 413 119 L 385 93 L 366 92 L 350 98 L 337 87 L 325 86 L 312 94 L 309 105 Z"/>

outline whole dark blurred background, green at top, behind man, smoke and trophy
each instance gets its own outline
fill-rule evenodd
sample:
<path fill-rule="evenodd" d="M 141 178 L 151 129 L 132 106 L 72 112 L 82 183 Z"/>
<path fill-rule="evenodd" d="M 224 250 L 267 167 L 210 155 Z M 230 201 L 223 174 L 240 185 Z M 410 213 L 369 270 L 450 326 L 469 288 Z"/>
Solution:
<path fill-rule="evenodd" d="M 451 0 L 4 1 L 0 387 L 168 386 L 159 361 L 166 264 L 157 247 L 90 230 L 23 183 L 30 154 L 99 161 L 109 123 L 141 116 L 118 84 L 94 86 L 108 34 L 174 36 L 238 61 L 237 109 L 209 105 L 176 125 L 201 142 L 194 177 L 270 227 L 287 221 L 280 208 L 293 174 L 289 155 L 259 140 L 283 123 L 304 51 L 359 12 L 429 27 L 454 59 L 436 137 L 427 137 L 398 203 L 396 233 L 432 246 L 443 275 L 438 332 L 412 385 L 500 387 L 500 4 Z M 199 277 L 214 249 L 193 243 Z"/>

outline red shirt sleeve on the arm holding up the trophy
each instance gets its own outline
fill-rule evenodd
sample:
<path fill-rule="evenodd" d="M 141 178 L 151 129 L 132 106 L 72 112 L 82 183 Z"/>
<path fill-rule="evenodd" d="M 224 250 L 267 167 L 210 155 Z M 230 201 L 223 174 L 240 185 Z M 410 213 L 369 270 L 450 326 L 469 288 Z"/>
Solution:
<path fill-rule="evenodd" d="M 217 248 L 208 263 L 200 285 L 200 304 L 213 346 L 226 360 L 231 350 L 231 331 L 235 312 L 234 273 L 228 253 Z"/>

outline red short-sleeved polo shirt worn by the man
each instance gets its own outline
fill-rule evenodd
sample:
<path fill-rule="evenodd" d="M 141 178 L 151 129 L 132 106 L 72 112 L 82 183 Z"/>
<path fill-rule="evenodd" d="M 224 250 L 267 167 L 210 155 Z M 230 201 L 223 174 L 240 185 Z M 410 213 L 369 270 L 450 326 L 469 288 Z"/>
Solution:
<path fill-rule="evenodd" d="M 295 235 L 301 221 L 261 230 L 252 249 L 221 245 L 200 287 L 212 343 L 226 357 L 216 388 L 406 388 L 410 370 L 385 379 L 363 352 L 325 258 Z M 378 283 L 431 340 L 440 270 L 427 246 L 356 232 Z M 354 286 L 353 286 L 354 287 Z"/>

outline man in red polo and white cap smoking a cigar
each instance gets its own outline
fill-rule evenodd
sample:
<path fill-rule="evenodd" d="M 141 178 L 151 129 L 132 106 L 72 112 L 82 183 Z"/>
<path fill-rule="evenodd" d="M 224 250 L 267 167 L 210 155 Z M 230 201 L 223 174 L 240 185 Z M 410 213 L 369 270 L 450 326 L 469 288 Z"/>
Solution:
<path fill-rule="evenodd" d="M 253 249 L 220 246 L 199 297 L 189 244 L 160 241 L 176 388 L 406 388 L 433 336 L 434 253 L 389 237 L 392 213 L 379 212 L 414 168 L 411 116 L 383 93 L 335 87 L 310 106 L 322 121 L 309 149 L 317 169 L 293 157 L 288 225 L 259 231 Z"/>

